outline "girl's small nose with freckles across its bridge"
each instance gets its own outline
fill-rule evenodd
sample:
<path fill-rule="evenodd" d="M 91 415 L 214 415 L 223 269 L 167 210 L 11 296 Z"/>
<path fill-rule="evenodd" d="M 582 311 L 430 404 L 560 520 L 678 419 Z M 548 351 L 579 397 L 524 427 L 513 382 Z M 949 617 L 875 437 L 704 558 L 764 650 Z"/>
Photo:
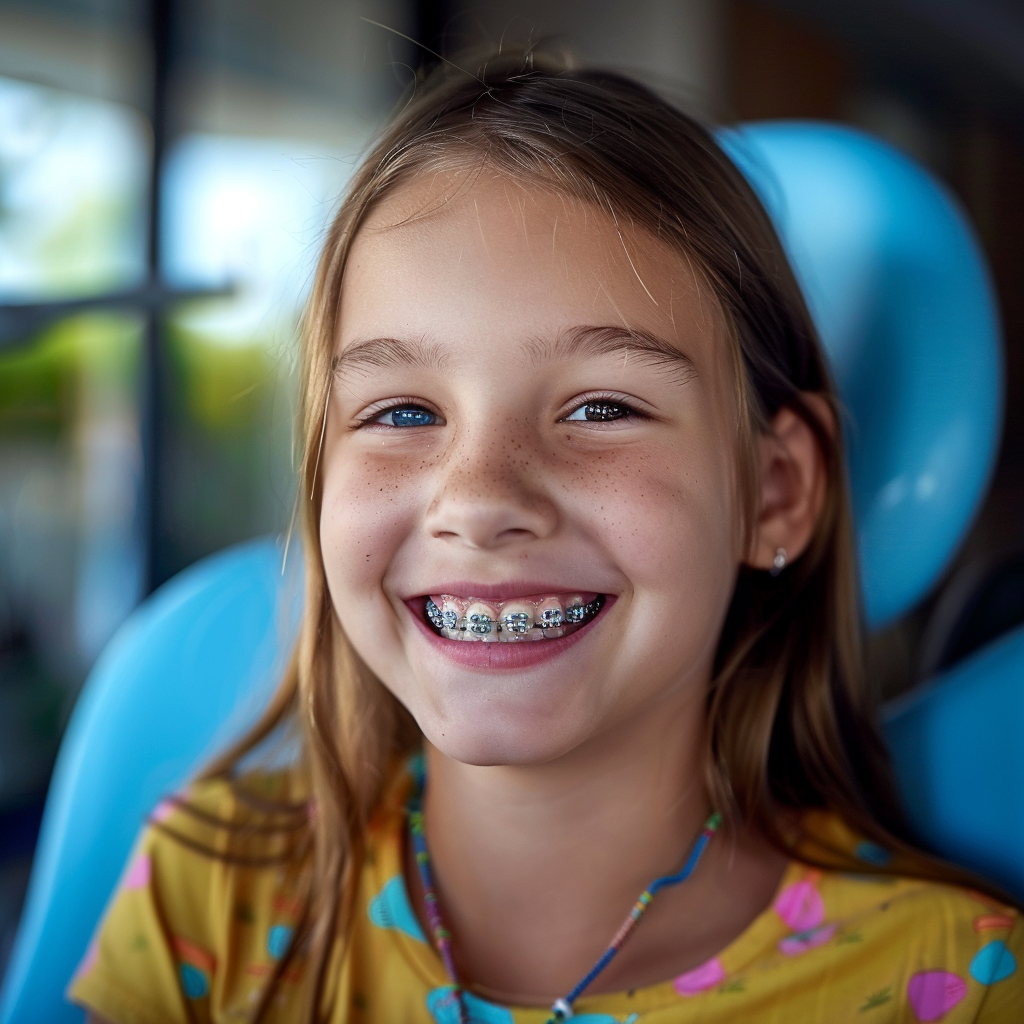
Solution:
<path fill-rule="evenodd" d="M 515 431 L 465 437 L 447 453 L 425 525 L 431 537 L 492 550 L 550 537 L 558 509 L 544 483 L 543 456 Z"/>

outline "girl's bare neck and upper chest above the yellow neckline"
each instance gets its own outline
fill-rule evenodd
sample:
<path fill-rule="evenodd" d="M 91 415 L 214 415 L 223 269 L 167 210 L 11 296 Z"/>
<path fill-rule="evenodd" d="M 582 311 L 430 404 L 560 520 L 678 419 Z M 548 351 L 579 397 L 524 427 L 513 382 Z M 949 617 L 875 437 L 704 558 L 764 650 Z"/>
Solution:
<path fill-rule="evenodd" d="M 591 968 L 641 891 L 680 868 L 709 816 L 702 719 L 692 707 L 663 708 L 544 765 L 466 765 L 427 744 L 427 842 L 464 984 L 550 1005 Z M 750 846 L 716 839 L 688 882 L 657 896 L 592 991 L 665 980 L 738 934 L 781 871 L 777 858 L 767 873 L 762 864 L 753 901 L 750 885 L 737 890 Z M 753 853 L 764 860 L 763 848 Z M 416 873 L 407 873 L 421 905 Z M 727 912 L 716 919 L 710 908 L 722 899 Z"/>

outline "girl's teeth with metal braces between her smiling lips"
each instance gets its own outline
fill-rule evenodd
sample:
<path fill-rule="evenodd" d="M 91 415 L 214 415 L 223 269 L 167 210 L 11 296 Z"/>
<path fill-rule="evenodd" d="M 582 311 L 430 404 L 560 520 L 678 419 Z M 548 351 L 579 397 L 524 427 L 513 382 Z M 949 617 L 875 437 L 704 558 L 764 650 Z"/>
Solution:
<path fill-rule="evenodd" d="M 568 636 L 593 620 L 603 594 L 517 597 L 483 601 L 475 597 L 431 594 L 424 607 L 427 622 L 449 640 L 522 643 Z"/>

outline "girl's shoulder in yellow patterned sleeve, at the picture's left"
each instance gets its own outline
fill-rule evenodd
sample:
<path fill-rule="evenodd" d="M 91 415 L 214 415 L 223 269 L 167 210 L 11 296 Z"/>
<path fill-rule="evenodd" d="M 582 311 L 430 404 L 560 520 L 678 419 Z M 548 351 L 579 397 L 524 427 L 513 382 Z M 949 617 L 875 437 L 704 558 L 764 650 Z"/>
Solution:
<path fill-rule="evenodd" d="M 301 912 L 301 778 L 211 779 L 162 801 L 72 986 L 111 1020 L 188 1021 L 248 1004 Z"/>

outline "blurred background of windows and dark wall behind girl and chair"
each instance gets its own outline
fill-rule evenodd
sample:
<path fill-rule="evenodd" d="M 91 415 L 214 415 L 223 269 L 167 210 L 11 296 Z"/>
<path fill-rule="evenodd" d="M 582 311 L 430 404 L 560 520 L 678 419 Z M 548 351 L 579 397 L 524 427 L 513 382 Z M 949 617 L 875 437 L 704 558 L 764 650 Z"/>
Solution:
<path fill-rule="evenodd" d="M 1001 303 L 1001 454 L 872 677 L 892 696 L 1024 622 L 1018 0 L 0 0 L 0 974 L 96 655 L 176 571 L 287 526 L 296 326 L 360 152 L 421 62 L 529 37 L 719 121 L 860 126 L 958 196 Z"/>

